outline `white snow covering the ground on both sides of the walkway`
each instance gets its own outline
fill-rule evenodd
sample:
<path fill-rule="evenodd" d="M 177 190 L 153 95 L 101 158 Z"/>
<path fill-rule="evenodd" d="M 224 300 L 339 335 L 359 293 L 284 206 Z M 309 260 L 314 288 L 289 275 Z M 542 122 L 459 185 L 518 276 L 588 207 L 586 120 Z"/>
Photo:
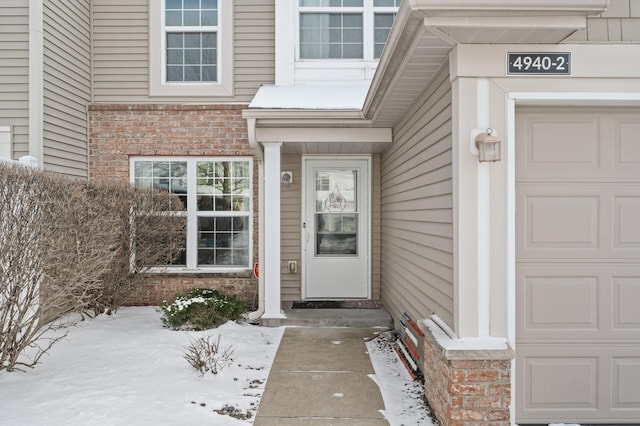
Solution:
<path fill-rule="evenodd" d="M 227 323 L 205 332 L 162 327 L 153 307 L 79 322 L 35 369 L 0 372 L 0 425 L 250 425 L 283 328 Z M 220 336 L 233 363 L 199 375 L 183 358 L 190 340 Z M 395 353 L 367 342 L 391 426 L 428 426 L 421 385 Z M 234 407 L 251 419 L 224 414 Z M 218 413 L 219 411 L 220 413 Z"/>

